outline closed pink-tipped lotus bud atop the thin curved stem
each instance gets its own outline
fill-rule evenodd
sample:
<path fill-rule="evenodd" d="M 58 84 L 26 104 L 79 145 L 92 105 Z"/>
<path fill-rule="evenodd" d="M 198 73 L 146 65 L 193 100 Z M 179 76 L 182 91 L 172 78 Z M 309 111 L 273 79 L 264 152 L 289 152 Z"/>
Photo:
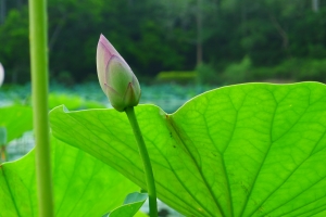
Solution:
<path fill-rule="evenodd" d="M 131 68 L 109 40 L 101 35 L 97 49 L 97 69 L 100 86 L 112 106 L 123 112 L 136 106 L 140 99 L 140 86 Z"/>

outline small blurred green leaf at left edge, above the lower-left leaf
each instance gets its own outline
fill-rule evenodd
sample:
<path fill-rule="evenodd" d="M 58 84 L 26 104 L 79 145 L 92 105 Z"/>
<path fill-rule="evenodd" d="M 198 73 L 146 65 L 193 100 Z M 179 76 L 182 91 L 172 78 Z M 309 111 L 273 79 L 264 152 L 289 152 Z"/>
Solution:
<path fill-rule="evenodd" d="M 7 142 L 33 129 L 30 106 L 10 105 L 0 107 L 0 127 L 7 128 Z"/>

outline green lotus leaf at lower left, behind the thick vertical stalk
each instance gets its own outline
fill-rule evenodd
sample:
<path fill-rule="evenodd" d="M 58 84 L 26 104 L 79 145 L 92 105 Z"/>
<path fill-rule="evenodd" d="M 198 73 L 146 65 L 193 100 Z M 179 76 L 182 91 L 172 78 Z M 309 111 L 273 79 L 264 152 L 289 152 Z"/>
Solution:
<path fill-rule="evenodd" d="M 139 189 L 89 154 L 52 139 L 55 216 L 102 216 Z M 0 165 L 0 216 L 38 216 L 34 151 Z"/>

